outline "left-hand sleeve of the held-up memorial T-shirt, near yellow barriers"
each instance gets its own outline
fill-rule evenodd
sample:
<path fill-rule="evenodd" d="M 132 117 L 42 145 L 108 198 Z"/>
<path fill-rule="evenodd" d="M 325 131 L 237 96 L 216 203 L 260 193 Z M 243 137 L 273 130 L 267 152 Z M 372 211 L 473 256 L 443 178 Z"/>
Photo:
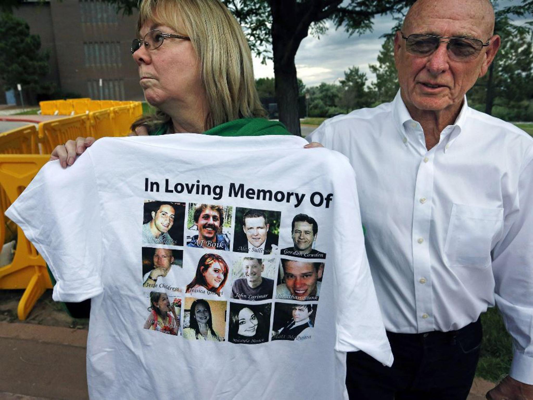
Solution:
<path fill-rule="evenodd" d="M 100 206 L 91 157 L 43 166 L 6 211 L 50 267 L 55 301 L 78 302 L 103 291 Z"/>

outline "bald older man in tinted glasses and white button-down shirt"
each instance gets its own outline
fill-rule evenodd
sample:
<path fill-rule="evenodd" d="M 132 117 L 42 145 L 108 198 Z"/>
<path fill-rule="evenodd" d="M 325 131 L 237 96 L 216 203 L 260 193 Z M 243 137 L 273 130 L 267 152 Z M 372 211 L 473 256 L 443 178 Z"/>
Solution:
<path fill-rule="evenodd" d="M 533 141 L 465 98 L 498 51 L 493 29 L 488 0 L 418 0 L 394 39 L 394 101 L 310 135 L 357 173 L 395 360 L 349 354 L 352 398 L 465 399 L 496 303 L 514 357 L 488 398 L 533 399 Z"/>

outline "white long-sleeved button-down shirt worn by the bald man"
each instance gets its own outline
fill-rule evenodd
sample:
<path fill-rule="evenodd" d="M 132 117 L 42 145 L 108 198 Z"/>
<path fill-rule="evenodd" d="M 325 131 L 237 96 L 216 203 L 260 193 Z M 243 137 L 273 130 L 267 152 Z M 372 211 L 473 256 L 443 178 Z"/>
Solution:
<path fill-rule="evenodd" d="M 328 119 L 308 137 L 348 156 L 385 327 L 457 330 L 494 306 L 511 376 L 533 384 L 533 140 L 466 104 L 427 150 L 394 101 Z"/>

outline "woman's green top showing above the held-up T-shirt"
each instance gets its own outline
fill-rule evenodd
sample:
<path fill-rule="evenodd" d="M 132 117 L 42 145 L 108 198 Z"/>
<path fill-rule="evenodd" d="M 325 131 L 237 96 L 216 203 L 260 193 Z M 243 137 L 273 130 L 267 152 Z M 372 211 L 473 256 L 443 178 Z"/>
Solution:
<path fill-rule="evenodd" d="M 166 125 L 150 133 L 152 136 L 163 135 L 167 131 Z M 204 135 L 216 136 L 265 136 L 290 135 L 284 124 L 279 121 L 269 121 L 264 118 L 241 118 L 229 121 L 204 132 Z"/>

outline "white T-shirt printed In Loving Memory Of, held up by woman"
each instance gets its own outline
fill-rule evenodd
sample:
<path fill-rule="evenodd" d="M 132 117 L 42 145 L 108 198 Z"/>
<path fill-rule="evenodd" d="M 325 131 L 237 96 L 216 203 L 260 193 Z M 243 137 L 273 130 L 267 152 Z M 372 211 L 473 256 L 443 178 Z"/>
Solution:
<path fill-rule="evenodd" d="M 345 351 L 361 349 L 392 364 L 353 170 L 344 156 L 304 149 L 305 143 L 290 136 L 103 138 L 66 170 L 50 162 L 37 174 L 6 215 L 50 266 L 57 280 L 54 300 L 92 298 L 91 398 L 348 398 Z M 172 207 L 161 206 L 168 203 Z M 152 218 L 146 210 L 154 205 L 155 223 L 172 229 L 175 238 L 185 235 L 188 223 L 187 211 L 185 221 L 179 219 L 183 203 L 186 210 L 198 203 L 222 205 L 231 213 L 224 229 L 233 233 L 242 229 L 237 217 L 243 209 L 266 210 L 269 230 L 286 243 L 293 218 L 309 215 L 318 223 L 327 257 L 263 255 L 277 263 L 287 259 L 285 269 L 279 268 L 272 299 L 246 301 L 230 299 L 229 289 L 233 260 L 247 254 L 154 244 L 183 251 L 183 268 L 175 270 L 183 276 L 176 280 L 196 279 L 210 294 L 143 288 L 142 224 Z M 200 268 L 197 260 L 207 253 L 210 264 Z M 276 298 L 281 277 L 296 300 Z M 302 293 L 317 284 L 318 299 L 306 300 Z M 217 292 L 222 285 L 225 290 Z M 181 314 L 179 334 L 145 328 L 154 311 L 165 321 L 174 306 Z M 300 318 L 297 313 L 307 313 L 313 325 L 302 340 L 272 341 L 273 330 Z M 183 337 L 184 330 L 196 332 L 194 321 L 198 333 Z"/>

